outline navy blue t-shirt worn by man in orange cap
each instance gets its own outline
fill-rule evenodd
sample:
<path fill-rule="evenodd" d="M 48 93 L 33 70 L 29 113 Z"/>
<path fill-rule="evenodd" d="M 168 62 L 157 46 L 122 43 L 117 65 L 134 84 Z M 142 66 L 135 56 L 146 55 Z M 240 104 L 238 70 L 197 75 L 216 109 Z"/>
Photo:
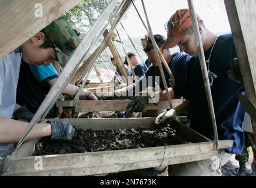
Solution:
<path fill-rule="evenodd" d="M 205 59 L 209 58 L 211 49 L 205 52 Z M 228 70 L 231 70 L 231 59 L 236 57 L 237 53 L 232 35 L 219 36 L 212 50 L 210 60 L 210 71 L 218 76 L 211 86 L 212 100 L 218 137 L 220 140 L 234 140 L 234 146 L 227 149 L 227 152 L 235 154 L 241 153 L 244 147 L 242 123 L 245 116 L 245 110 L 241 108 L 237 96 L 242 86 L 230 80 L 227 74 Z M 198 55 L 194 56 L 188 63 L 185 84 L 184 98 L 190 100 L 188 116 L 191 119 L 191 128 L 214 140 L 214 131 Z"/>

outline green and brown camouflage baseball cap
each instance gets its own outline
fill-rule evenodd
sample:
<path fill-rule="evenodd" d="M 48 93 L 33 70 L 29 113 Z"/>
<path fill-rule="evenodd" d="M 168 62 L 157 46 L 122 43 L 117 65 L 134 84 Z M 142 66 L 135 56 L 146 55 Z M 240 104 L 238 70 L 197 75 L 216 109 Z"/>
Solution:
<path fill-rule="evenodd" d="M 64 67 L 81 42 L 77 31 L 62 17 L 46 26 L 43 31 L 54 43 L 58 61 Z"/>

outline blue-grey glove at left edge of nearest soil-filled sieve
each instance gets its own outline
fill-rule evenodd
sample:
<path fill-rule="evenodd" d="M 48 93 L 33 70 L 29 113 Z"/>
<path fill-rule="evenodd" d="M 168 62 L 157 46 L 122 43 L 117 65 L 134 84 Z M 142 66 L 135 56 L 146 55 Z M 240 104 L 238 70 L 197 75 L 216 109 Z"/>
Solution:
<path fill-rule="evenodd" d="M 68 122 L 49 122 L 52 127 L 52 140 L 71 140 L 75 135 L 75 129 Z"/>

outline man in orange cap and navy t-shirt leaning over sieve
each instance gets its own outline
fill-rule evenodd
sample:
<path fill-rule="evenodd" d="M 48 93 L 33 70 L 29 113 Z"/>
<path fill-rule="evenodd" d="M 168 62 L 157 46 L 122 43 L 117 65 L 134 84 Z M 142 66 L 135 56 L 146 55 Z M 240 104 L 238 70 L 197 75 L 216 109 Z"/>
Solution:
<path fill-rule="evenodd" d="M 219 150 L 218 168 L 211 169 L 211 160 L 180 164 L 172 176 L 221 176 L 220 168 L 228 162 L 232 154 L 241 153 L 244 147 L 244 122 L 245 110 L 241 108 L 237 93 L 242 92 L 242 86 L 228 78 L 231 70 L 230 61 L 237 57 L 234 41 L 231 34 L 217 36 L 207 28 L 197 15 L 197 21 L 207 61 L 208 76 L 211 83 L 212 100 L 220 140 L 234 140 L 234 145 L 225 150 Z M 194 32 L 188 9 L 181 9 L 172 15 L 167 23 L 168 39 L 164 48 L 179 46 L 181 51 L 195 55 L 188 63 L 185 79 L 184 98 L 182 105 L 169 110 L 157 117 L 156 123 L 171 120 L 179 113 L 188 110 L 192 129 L 214 140 L 210 110 L 197 55 Z"/>

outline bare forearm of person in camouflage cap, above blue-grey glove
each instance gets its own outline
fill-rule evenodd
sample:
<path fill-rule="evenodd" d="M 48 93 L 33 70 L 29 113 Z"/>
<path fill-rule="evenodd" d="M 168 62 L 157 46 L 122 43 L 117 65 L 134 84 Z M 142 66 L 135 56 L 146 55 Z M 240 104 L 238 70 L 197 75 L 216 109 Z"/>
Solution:
<path fill-rule="evenodd" d="M 0 143 L 17 143 L 25 132 L 28 123 L 5 117 L 0 117 Z M 26 137 L 26 141 L 50 136 L 52 133 L 51 124 L 36 123 Z"/>

